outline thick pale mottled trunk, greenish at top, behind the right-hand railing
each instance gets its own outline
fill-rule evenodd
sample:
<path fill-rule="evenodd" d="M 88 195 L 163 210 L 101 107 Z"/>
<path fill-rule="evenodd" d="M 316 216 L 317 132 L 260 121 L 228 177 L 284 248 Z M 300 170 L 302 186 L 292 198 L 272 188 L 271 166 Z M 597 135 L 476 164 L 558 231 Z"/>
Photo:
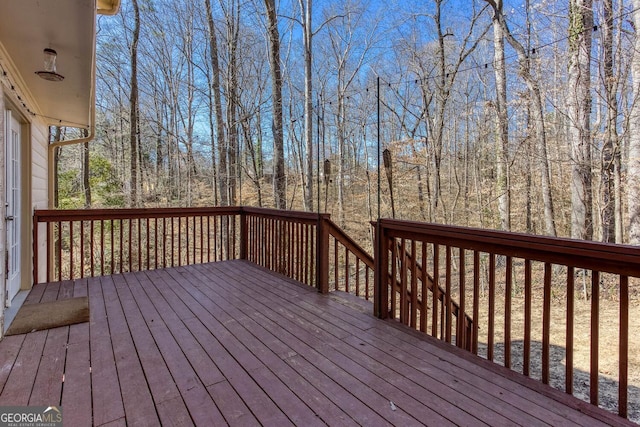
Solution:
<path fill-rule="evenodd" d="M 593 238 L 591 188 L 592 0 L 569 4 L 568 116 L 571 143 L 571 237 Z"/>

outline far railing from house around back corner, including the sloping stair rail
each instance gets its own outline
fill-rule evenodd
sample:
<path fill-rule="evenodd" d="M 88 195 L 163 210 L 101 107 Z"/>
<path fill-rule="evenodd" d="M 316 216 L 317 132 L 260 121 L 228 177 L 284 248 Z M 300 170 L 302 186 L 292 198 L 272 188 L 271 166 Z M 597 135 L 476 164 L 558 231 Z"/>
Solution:
<path fill-rule="evenodd" d="M 33 244 L 34 283 L 248 259 L 323 292 L 373 298 L 373 259 L 326 214 L 252 207 L 38 210 Z"/>

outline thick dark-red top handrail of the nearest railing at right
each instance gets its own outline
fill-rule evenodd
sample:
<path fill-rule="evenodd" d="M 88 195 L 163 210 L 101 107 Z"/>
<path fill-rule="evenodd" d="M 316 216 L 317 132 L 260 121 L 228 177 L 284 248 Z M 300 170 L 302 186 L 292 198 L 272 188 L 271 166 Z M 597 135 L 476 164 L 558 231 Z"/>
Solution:
<path fill-rule="evenodd" d="M 429 235 L 448 246 L 640 277 L 636 246 L 393 219 L 380 223 L 390 237 Z"/>

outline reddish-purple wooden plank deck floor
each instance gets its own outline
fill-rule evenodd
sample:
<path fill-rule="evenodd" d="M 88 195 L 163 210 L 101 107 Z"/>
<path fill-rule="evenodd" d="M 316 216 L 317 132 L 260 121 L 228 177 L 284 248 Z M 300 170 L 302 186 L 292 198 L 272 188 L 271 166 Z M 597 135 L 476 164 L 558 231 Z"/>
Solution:
<path fill-rule="evenodd" d="M 91 322 L 0 342 L 0 405 L 65 425 L 630 424 L 245 261 L 36 285 Z"/>

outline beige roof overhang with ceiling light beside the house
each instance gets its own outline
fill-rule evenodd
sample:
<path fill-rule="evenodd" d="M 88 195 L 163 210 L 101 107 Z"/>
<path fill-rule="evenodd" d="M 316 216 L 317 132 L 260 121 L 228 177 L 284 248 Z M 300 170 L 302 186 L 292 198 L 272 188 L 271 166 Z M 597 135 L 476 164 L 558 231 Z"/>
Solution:
<path fill-rule="evenodd" d="M 52 125 L 93 125 L 96 14 L 115 14 L 120 0 L 0 1 L 0 61 L 35 106 L 31 111 Z M 57 52 L 63 81 L 43 80 L 43 50 Z"/>

